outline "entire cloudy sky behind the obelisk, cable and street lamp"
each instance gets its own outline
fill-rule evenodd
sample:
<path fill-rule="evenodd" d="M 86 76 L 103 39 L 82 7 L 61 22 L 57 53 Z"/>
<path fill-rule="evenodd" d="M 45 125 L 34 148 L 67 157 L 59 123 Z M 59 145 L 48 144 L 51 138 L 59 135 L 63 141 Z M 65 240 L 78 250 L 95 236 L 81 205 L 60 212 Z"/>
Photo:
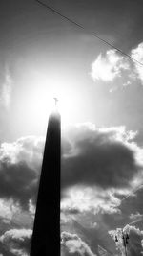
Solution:
<path fill-rule="evenodd" d="M 61 256 L 124 256 L 122 230 L 128 255 L 142 255 L 143 3 L 43 3 L 85 30 L 34 0 L 0 2 L 0 256 L 29 255 L 55 95 Z"/>

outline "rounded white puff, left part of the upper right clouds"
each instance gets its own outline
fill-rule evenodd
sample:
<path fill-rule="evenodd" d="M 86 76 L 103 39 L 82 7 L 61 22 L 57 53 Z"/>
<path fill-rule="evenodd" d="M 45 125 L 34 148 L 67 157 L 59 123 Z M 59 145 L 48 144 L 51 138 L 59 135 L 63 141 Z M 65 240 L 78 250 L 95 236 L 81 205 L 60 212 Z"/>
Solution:
<path fill-rule="evenodd" d="M 113 81 L 121 77 L 123 70 L 128 70 L 129 64 L 116 50 L 109 50 L 106 55 L 100 54 L 92 63 L 91 76 L 94 81 Z"/>

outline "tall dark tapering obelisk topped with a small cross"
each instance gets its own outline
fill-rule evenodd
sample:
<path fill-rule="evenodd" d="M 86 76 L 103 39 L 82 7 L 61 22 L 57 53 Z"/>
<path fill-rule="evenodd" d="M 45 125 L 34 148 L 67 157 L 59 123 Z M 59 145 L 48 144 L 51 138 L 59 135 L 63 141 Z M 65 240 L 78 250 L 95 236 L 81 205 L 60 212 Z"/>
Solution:
<path fill-rule="evenodd" d="M 61 120 L 51 112 L 31 239 L 31 256 L 60 255 Z"/>

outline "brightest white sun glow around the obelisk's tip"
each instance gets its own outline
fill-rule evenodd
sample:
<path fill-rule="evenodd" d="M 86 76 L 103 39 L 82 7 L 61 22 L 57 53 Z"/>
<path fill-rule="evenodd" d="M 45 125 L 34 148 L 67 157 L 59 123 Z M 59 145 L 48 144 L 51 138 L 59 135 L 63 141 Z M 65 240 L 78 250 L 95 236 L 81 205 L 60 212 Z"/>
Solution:
<path fill-rule="evenodd" d="M 61 114 L 61 124 L 66 126 L 73 123 L 77 113 L 77 91 L 72 86 L 66 86 L 61 81 L 37 81 L 31 92 L 31 116 L 38 122 L 46 124 L 51 112 L 55 109 L 57 98 L 57 110 Z"/>

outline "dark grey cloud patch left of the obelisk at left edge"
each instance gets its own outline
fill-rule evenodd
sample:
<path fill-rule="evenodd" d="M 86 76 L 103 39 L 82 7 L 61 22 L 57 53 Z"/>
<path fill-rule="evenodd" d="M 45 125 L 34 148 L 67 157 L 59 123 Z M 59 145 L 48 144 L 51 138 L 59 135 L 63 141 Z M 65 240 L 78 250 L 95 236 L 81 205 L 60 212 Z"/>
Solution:
<path fill-rule="evenodd" d="M 26 163 L 1 163 L 0 198 L 12 198 L 22 207 L 28 207 L 36 194 L 37 175 Z"/>

